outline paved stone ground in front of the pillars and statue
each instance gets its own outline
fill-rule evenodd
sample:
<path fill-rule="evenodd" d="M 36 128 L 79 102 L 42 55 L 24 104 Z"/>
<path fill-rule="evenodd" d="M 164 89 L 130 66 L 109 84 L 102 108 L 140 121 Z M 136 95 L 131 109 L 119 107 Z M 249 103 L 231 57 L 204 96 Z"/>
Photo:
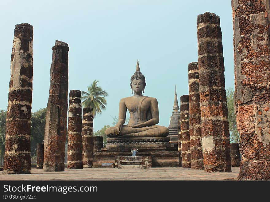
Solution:
<path fill-rule="evenodd" d="M 204 172 L 191 168 L 145 168 L 136 170 L 117 168 L 84 168 L 64 172 L 43 172 L 31 168 L 32 174 L 0 175 L 0 180 L 236 180 L 239 167 L 232 172 Z"/>

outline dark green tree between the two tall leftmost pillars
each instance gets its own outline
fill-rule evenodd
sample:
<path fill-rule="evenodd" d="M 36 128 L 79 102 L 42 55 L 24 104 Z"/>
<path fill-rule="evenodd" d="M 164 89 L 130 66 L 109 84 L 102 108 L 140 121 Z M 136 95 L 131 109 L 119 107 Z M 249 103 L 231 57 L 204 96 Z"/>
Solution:
<path fill-rule="evenodd" d="M 31 118 L 31 155 L 37 154 L 37 143 L 44 142 L 47 107 L 32 112 Z"/>

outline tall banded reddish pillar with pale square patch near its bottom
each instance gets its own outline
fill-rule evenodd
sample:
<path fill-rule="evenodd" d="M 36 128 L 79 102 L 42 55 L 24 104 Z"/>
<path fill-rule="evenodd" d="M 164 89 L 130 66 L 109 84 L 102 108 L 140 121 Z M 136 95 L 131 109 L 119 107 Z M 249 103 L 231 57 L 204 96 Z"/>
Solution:
<path fill-rule="evenodd" d="M 231 172 L 230 133 L 219 16 L 198 15 L 199 91 L 205 172 Z"/>

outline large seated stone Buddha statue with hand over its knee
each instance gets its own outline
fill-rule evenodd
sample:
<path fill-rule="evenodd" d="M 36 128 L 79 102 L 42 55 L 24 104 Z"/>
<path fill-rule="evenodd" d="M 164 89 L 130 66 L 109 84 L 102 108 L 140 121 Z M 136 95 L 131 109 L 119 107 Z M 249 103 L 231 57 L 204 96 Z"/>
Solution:
<path fill-rule="evenodd" d="M 157 100 L 142 94 L 145 93 L 145 85 L 145 76 L 140 72 L 137 61 L 136 72 L 130 78 L 134 95 L 120 100 L 118 123 L 106 129 L 108 137 L 166 137 L 169 134 L 167 127 L 156 125 L 159 122 Z M 127 125 L 123 125 L 127 110 L 130 119 Z"/>

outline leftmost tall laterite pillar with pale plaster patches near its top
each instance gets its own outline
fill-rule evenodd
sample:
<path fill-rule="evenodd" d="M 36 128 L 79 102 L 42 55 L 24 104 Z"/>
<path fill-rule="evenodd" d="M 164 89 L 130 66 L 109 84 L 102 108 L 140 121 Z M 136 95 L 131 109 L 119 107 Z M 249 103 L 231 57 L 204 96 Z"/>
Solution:
<path fill-rule="evenodd" d="M 3 174 L 29 174 L 33 81 L 33 26 L 15 26 L 10 61 Z"/>

